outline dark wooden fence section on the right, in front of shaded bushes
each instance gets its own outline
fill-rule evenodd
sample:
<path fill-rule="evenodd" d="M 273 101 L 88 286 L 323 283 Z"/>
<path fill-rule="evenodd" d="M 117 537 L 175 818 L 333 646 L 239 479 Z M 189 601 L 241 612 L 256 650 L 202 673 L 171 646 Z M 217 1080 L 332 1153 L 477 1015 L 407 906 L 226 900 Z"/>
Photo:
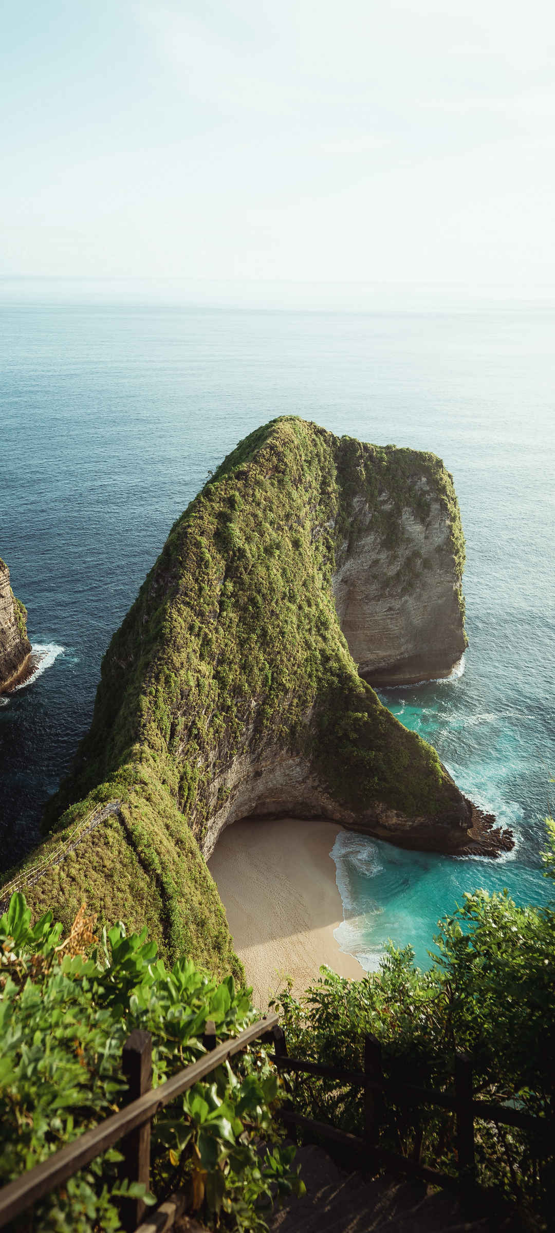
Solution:
<path fill-rule="evenodd" d="M 456 1190 L 462 1187 L 474 1192 L 477 1191 L 474 1124 L 476 1118 L 535 1133 L 541 1132 L 545 1134 L 545 1142 L 555 1141 L 553 1117 L 534 1117 L 523 1110 L 513 1108 L 508 1105 L 476 1100 L 472 1091 L 472 1064 L 470 1058 L 464 1053 L 458 1053 L 455 1057 L 453 1092 L 422 1088 L 397 1080 L 395 1076 L 385 1078 L 381 1044 L 371 1033 L 368 1033 L 365 1037 L 364 1071 L 343 1070 L 339 1067 L 306 1062 L 303 1058 L 290 1058 L 282 1032 L 276 1038 L 276 1049 L 273 1060 L 281 1071 L 335 1079 L 344 1086 L 364 1089 L 363 1138 L 359 1138 L 356 1134 L 349 1134 L 345 1131 L 339 1131 L 327 1122 L 303 1117 L 292 1108 L 284 1108 L 280 1112 L 280 1117 L 285 1124 L 298 1126 L 308 1134 L 342 1144 L 349 1148 L 355 1158 L 363 1161 L 371 1159 L 377 1164 L 385 1165 L 392 1173 L 411 1174 L 435 1186 Z M 379 1145 L 380 1127 L 385 1121 L 386 1099 L 395 1105 L 412 1106 L 413 1108 L 430 1105 L 432 1107 L 446 1108 L 455 1115 L 456 1175 L 440 1173 L 438 1169 L 422 1165 L 419 1160 L 421 1142 L 418 1142 L 418 1137 L 416 1153 L 412 1157 L 405 1157 L 401 1153 L 390 1152 Z"/>

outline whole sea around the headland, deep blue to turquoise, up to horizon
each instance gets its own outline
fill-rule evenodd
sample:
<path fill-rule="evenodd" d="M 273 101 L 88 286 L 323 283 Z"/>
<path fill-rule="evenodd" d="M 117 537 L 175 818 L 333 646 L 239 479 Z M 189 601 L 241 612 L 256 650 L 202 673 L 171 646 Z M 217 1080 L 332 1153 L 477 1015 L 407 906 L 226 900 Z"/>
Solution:
<path fill-rule="evenodd" d="M 518 837 L 493 862 L 347 836 L 335 853 L 343 944 L 372 964 L 391 936 L 424 962 L 438 916 L 464 890 L 507 885 L 544 901 L 554 330 L 555 312 L 534 307 L 249 312 L 0 292 L 0 556 L 51 663 L 0 708 L 1 866 L 37 840 L 89 726 L 101 656 L 171 523 L 239 438 L 295 413 L 433 450 L 453 472 L 467 543 L 465 671 L 382 697 Z"/>

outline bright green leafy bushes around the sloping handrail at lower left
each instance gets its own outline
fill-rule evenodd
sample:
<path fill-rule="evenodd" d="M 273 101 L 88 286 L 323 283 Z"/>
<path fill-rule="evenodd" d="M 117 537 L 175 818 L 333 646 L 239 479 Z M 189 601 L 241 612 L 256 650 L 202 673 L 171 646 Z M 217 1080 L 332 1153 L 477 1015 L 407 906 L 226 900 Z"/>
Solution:
<path fill-rule="evenodd" d="M 133 1028 L 153 1036 L 153 1086 L 200 1057 L 206 1020 L 221 1039 L 257 1018 L 233 977 L 220 984 L 180 959 L 169 972 L 154 943 L 113 926 L 100 940 L 84 911 L 62 941 L 48 912 L 31 926 L 21 894 L 0 920 L 0 1184 L 47 1159 L 125 1104 L 122 1046 Z M 189 1190 L 190 1212 L 208 1224 L 264 1229 L 270 1186 L 298 1190 L 292 1150 L 274 1124 L 278 1078 L 261 1047 L 226 1063 L 153 1123 L 157 1200 Z M 275 1141 L 260 1154 L 263 1138 Z M 130 1194 L 122 1157 L 106 1152 L 12 1227 L 26 1233 L 118 1229 Z M 141 1187 L 134 1187 L 141 1194 Z"/>

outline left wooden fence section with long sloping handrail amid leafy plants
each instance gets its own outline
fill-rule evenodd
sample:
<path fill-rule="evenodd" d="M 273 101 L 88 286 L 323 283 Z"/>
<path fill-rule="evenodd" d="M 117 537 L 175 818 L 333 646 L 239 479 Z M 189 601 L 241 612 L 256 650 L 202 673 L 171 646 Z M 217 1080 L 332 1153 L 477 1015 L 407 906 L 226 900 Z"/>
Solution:
<path fill-rule="evenodd" d="M 215 1025 L 208 1020 L 202 1038 L 206 1054 L 190 1067 L 171 1075 L 159 1088 L 153 1089 L 150 1086 L 150 1033 L 132 1032 L 123 1046 L 122 1059 L 123 1073 L 130 1085 L 130 1104 L 117 1113 L 99 1122 L 91 1131 L 85 1131 L 84 1134 L 60 1148 L 48 1160 L 35 1165 L 33 1169 L 4 1186 L 0 1190 L 0 1228 L 32 1207 L 37 1200 L 44 1198 L 44 1195 L 49 1195 L 57 1186 L 63 1185 L 68 1178 L 73 1178 L 79 1169 L 84 1169 L 95 1157 L 101 1155 L 120 1139 L 123 1141 L 121 1150 L 125 1155 L 122 1176 L 128 1178 L 130 1181 L 144 1182 L 148 1190 L 152 1118 L 176 1096 L 189 1091 L 200 1079 L 205 1079 L 212 1070 L 216 1070 L 216 1067 L 220 1067 L 227 1058 L 240 1053 L 253 1041 L 268 1033 L 274 1034 L 275 1048 L 279 1051 L 281 1028 L 278 1027 L 278 1015 L 268 1015 L 266 1018 L 252 1023 L 244 1032 L 239 1032 L 239 1036 L 217 1044 Z M 144 1203 L 141 1198 L 122 1200 L 122 1224 L 128 1233 L 137 1229 L 143 1213 Z M 162 1215 L 164 1219 L 154 1222 L 153 1228 L 166 1229 L 171 1227 L 173 1213 L 168 1210 Z"/>

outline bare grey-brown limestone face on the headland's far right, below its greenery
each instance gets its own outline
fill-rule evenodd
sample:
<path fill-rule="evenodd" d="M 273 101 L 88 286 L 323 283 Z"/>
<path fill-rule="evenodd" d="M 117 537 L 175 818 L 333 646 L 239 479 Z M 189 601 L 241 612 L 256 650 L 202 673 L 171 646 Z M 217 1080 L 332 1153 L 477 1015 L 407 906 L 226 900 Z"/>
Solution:
<path fill-rule="evenodd" d="M 352 502 L 356 534 L 342 544 L 333 576 L 337 614 L 359 672 L 371 684 L 446 677 L 465 647 L 461 578 L 448 510 L 429 491 L 426 519 L 401 514 L 391 550 L 364 497 Z"/>

